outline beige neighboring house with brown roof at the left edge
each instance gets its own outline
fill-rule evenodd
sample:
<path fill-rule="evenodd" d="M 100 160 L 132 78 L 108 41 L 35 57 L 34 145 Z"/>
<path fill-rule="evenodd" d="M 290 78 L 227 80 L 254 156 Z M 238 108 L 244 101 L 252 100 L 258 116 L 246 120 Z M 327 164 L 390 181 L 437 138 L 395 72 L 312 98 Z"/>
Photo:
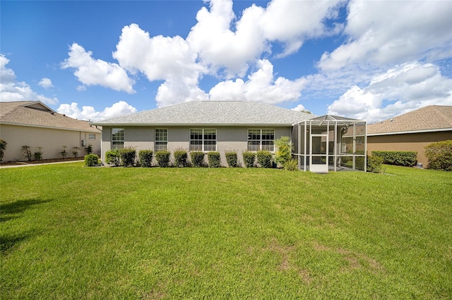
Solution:
<path fill-rule="evenodd" d="M 73 147 L 79 147 L 78 156 L 84 156 L 88 145 L 100 155 L 100 130 L 40 101 L 0 102 L 0 139 L 8 143 L 4 161 L 25 161 L 25 145 L 32 147 L 32 154 L 42 147 L 42 159 L 61 158 L 63 146 L 68 157 L 73 157 Z"/>

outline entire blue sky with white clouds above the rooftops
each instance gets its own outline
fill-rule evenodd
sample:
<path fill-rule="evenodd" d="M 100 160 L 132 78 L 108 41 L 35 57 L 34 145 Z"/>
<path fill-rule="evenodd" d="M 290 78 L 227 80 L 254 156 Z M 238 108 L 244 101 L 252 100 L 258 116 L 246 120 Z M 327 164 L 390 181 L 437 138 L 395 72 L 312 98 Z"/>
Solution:
<path fill-rule="evenodd" d="M 1 1 L 1 101 L 84 120 L 192 100 L 373 123 L 452 105 L 452 1 Z"/>

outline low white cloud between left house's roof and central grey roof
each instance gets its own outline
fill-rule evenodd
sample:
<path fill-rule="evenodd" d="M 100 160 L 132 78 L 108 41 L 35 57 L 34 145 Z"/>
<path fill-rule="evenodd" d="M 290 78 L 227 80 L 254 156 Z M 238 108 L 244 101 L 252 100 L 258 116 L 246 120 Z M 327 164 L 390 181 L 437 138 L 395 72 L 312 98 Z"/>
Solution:
<path fill-rule="evenodd" d="M 103 111 L 95 111 L 93 106 L 83 106 L 82 109 L 80 109 L 78 108 L 77 103 L 72 102 L 71 104 L 61 104 L 57 111 L 78 120 L 100 121 L 119 117 L 120 115 L 136 113 L 136 108 L 127 104 L 125 101 L 119 101 L 112 106 L 105 108 Z"/>

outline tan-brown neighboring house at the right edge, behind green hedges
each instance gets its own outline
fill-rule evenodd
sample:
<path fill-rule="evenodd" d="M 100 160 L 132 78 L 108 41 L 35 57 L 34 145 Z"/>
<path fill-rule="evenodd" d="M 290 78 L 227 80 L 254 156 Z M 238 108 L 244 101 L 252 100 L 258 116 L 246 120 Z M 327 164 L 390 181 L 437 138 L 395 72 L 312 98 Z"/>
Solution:
<path fill-rule="evenodd" d="M 427 167 L 424 146 L 452 139 L 452 106 L 427 106 L 367 125 L 367 151 L 417 151 Z"/>

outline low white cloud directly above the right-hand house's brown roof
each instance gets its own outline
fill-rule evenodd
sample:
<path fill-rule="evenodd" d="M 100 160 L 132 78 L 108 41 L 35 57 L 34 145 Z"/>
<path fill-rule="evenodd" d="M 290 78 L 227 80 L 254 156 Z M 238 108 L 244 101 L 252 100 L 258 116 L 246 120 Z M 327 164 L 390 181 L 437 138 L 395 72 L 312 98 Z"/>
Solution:
<path fill-rule="evenodd" d="M 432 63 L 405 63 L 376 75 L 367 87 L 351 87 L 328 113 L 374 123 L 428 105 L 452 105 L 452 79 Z"/>

